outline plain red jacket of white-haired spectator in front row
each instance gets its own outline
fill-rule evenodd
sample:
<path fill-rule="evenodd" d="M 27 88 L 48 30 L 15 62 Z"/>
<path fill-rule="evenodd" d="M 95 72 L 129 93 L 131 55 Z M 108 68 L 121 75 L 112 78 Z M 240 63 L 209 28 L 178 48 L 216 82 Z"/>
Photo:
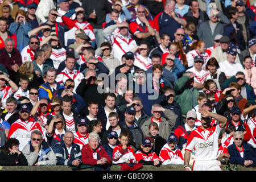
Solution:
<path fill-rule="evenodd" d="M 92 148 L 90 148 L 89 144 L 85 144 L 82 147 L 81 153 L 82 153 L 82 163 L 83 164 L 89 164 L 92 166 L 97 165 L 97 159 L 93 158 L 93 150 L 92 150 Z M 100 158 L 108 159 L 108 162 L 106 163 L 106 165 L 112 164 L 112 159 L 110 158 L 110 156 L 108 155 L 108 153 L 105 151 L 105 149 L 103 147 L 101 147 L 101 146 L 98 147 L 97 153 L 100 154 Z"/>

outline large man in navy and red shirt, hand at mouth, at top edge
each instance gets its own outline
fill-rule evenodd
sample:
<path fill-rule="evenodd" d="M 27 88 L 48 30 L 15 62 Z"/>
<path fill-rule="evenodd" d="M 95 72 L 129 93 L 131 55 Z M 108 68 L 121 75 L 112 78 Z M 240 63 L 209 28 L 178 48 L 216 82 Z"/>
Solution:
<path fill-rule="evenodd" d="M 160 43 L 160 36 L 163 32 L 170 36 L 171 41 L 175 39 L 174 33 L 177 28 L 185 26 L 186 20 L 179 14 L 175 13 L 175 1 L 167 0 L 164 4 L 164 11 L 154 18 L 156 29 L 156 40 Z"/>

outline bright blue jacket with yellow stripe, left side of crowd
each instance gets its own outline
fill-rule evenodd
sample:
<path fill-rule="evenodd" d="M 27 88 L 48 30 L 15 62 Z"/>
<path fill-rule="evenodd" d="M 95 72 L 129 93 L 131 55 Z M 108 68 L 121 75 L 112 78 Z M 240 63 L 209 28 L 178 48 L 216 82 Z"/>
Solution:
<path fill-rule="evenodd" d="M 39 99 L 42 97 L 46 97 L 51 99 L 53 96 L 60 97 L 61 92 L 65 89 L 64 86 L 61 86 L 58 82 L 56 82 L 57 88 L 56 92 L 53 93 L 51 90 L 51 86 L 49 86 L 48 82 L 46 84 L 42 84 L 39 86 Z"/>

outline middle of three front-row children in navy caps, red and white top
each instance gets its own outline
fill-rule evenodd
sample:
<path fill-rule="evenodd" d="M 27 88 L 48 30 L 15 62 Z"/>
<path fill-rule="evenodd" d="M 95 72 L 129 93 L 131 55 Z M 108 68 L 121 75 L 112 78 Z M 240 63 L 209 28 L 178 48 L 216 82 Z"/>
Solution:
<path fill-rule="evenodd" d="M 161 164 L 159 156 L 151 150 L 151 141 L 148 138 L 142 140 L 139 150 L 135 153 L 135 158 L 137 163 L 143 165 L 159 167 Z"/>

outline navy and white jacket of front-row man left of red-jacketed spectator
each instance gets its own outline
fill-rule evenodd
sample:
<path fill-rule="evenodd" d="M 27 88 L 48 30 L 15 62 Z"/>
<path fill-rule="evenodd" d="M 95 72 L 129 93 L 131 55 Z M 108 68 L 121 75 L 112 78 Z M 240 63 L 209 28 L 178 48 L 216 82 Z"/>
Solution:
<path fill-rule="evenodd" d="M 61 166 L 72 166 L 73 160 L 79 159 L 80 164 L 82 164 L 82 154 L 81 150 L 78 144 L 72 143 L 72 149 L 70 158 L 68 158 L 68 149 L 65 146 L 64 141 L 62 140 L 59 143 L 56 143 L 55 146 L 53 146 L 52 150 L 55 152 L 56 158 L 57 158 L 57 165 Z"/>

